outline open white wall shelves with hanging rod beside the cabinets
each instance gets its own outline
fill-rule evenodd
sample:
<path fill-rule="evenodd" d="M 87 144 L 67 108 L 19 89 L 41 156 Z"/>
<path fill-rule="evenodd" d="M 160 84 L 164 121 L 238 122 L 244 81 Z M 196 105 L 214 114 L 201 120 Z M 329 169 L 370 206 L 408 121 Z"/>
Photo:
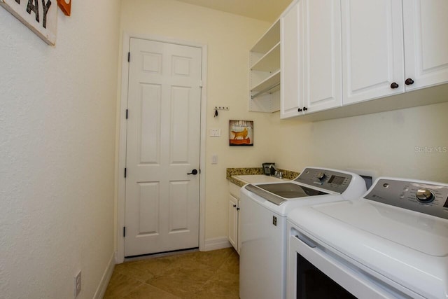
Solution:
<path fill-rule="evenodd" d="M 249 53 L 249 111 L 280 109 L 280 22 L 272 25 Z"/>

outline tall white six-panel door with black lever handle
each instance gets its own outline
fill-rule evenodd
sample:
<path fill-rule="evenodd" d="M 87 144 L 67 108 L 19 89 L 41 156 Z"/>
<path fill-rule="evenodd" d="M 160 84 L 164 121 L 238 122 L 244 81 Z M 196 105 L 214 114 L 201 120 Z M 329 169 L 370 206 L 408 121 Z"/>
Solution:
<path fill-rule="evenodd" d="M 202 49 L 130 39 L 125 256 L 199 246 Z"/>

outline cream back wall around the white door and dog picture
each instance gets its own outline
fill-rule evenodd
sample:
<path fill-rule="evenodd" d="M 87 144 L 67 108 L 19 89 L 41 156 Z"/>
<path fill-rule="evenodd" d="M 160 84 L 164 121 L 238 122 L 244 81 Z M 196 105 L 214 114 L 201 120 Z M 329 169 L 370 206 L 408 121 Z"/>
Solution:
<path fill-rule="evenodd" d="M 163 36 L 169 39 L 207 45 L 207 132 L 220 128 L 221 137 L 207 138 L 206 176 L 206 239 L 228 235 L 227 167 L 261 167 L 271 160 L 267 138 L 269 113 L 248 113 L 248 51 L 270 26 L 239 15 L 193 6 L 173 0 L 123 1 L 121 29 L 138 36 Z M 219 111 L 215 106 L 230 106 Z M 253 148 L 230 148 L 230 119 L 254 120 Z M 211 155 L 218 155 L 218 164 L 211 165 Z"/>

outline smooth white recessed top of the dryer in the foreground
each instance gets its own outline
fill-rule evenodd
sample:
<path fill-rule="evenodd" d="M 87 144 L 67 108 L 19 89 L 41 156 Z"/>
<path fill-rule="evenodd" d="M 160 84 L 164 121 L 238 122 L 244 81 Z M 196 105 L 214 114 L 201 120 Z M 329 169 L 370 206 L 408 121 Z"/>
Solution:
<path fill-rule="evenodd" d="M 410 249 L 431 256 L 448 256 L 448 221 L 442 218 L 365 200 L 314 209 Z"/>

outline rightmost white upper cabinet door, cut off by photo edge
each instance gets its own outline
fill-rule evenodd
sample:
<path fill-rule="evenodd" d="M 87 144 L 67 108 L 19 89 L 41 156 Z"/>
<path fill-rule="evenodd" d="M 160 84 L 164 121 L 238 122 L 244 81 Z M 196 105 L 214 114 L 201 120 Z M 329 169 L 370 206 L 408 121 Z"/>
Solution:
<path fill-rule="evenodd" d="M 403 0 L 406 90 L 448 82 L 448 1 Z"/>

